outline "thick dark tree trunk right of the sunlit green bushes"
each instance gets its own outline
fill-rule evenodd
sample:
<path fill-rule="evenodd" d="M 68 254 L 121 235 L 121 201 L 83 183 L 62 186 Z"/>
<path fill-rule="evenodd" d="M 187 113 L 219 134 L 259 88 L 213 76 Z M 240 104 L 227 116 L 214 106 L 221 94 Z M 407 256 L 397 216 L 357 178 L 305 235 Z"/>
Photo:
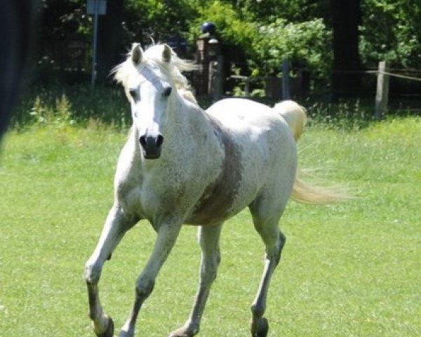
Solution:
<path fill-rule="evenodd" d="M 353 95 L 359 89 L 361 0 L 330 0 L 333 23 L 333 94 Z"/>

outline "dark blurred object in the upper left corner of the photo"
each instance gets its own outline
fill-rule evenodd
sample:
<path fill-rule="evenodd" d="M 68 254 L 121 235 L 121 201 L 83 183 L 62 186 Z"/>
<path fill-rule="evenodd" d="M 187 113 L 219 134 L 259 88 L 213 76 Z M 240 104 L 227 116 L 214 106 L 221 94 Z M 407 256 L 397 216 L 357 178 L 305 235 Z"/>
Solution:
<path fill-rule="evenodd" d="M 15 107 L 31 48 L 38 0 L 0 1 L 0 138 Z"/>

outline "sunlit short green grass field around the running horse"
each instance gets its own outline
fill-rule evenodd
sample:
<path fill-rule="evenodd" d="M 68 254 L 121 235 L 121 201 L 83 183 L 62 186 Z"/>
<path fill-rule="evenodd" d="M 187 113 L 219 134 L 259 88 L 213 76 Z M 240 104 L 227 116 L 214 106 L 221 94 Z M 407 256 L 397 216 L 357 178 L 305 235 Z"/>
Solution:
<path fill-rule="evenodd" d="M 112 205 L 126 133 L 93 123 L 11 131 L 0 159 L 0 336 L 94 336 L 83 265 Z M 421 119 L 359 131 L 312 126 L 300 164 L 360 199 L 333 206 L 293 201 L 287 244 L 269 292 L 269 335 L 421 336 Z M 326 172 L 326 174 L 323 174 Z M 140 223 L 105 265 L 100 293 L 116 328 L 155 234 Z M 249 336 L 263 246 L 248 211 L 225 224 L 222 263 L 199 336 Z M 196 291 L 196 228 L 185 227 L 138 320 L 137 336 L 167 336 Z"/>

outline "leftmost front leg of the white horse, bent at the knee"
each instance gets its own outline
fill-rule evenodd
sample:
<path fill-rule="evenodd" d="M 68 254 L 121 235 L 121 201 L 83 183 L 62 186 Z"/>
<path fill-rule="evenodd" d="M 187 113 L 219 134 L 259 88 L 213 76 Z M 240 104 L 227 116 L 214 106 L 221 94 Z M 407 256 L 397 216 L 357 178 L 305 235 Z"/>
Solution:
<path fill-rule="evenodd" d="M 113 206 L 108 213 L 98 244 L 85 265 L 89 317 L 93 321 L 93 331 L 98 337 L 112 337 L 114 333 L 114 323 L 111 317 L 103 312 L 98 293 L 102 266 L 119 244 L 123 234 L 135 223 L 136 220 L 127 219 L 118 206 Z"/>

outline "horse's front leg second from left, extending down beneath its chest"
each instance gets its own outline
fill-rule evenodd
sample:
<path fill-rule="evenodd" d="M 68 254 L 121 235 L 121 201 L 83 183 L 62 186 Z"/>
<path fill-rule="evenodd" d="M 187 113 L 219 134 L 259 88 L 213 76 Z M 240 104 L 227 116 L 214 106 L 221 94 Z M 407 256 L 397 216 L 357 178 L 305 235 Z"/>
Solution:
<path fill-rule="evenodd" d="M 121 328 L 119 337 L 134 336 L 136 319 L 140 308 L 154 289 L 155 279 L 166 258 L 168 258 L 171 249 L 173 249 L 181 225 L 181 222 L 179 223 L 178 221 L 166 221 L 161 225 L 154 226 L 158 233 L 154 249 L 145 268 L 136 280 L 135 303 L 126 323 Z"/>

